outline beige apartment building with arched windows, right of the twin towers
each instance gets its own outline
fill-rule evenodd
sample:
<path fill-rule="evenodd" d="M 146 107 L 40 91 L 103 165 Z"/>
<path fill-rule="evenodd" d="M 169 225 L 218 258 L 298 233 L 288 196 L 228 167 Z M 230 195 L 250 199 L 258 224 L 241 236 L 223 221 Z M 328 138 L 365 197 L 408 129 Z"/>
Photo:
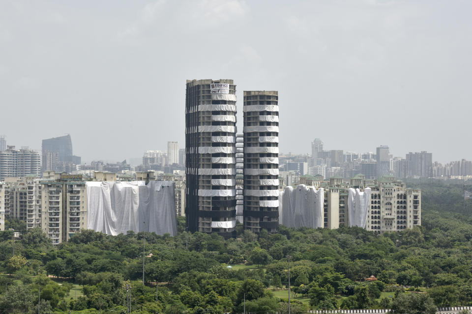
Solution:
<path fill-rule="evenodd" d="M 329 182 L 319 183 L 317 178 L 303 176 L 303 182 L 317 183 L 315 188 L 323 188 L 323 224 L 308 227 L 323 227 L 337 229 L 340 226 L 353 226 L 357 217 L 350 217 L 350 192 L 363 195 L 356 209 L 356 215 L 362 215 L 365 224 L 360 226 L 375 234 L 383 232 L 402 231 L 421 225 L 421 190 L 407 188 L 406 184 L 394 177 L 382 177 L 377 180 L 365 180 L 363 175 L 357 175 L 350 180 L 331 178 Z M 301 183 L 301 182 L 300 182 Z M 364 194 L 364 193 L 368 194 Z M 367 199 L 368 197 L 368 199 Z M 360 211 L 359 211 L 360 209 Z M 300 208 L 297 212 L 316 211 L 314 208 Z M 292 211 L 294 211 L 292 209 Z M 365 215 L 365 216 L 364 216 Z M 291 226 L 302 227 L 302 226 Z"/>

